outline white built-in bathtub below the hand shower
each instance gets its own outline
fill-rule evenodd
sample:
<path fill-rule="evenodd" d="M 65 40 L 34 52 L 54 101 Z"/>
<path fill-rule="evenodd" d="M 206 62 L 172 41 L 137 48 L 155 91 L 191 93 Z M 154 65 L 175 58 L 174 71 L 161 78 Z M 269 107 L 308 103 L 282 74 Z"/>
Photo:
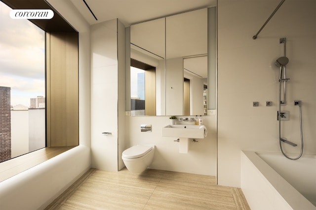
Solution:
<path fill-rule="evenodd" d="M 316 155 L 241 151 L 241 189 L 251 210 L 316 210 Z"/>

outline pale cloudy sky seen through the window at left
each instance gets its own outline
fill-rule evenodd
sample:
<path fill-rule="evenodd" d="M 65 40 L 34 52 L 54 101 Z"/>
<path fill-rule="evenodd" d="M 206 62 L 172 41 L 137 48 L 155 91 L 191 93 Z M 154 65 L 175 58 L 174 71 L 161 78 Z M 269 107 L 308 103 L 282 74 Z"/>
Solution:
<path fill-rule="evenodd" d="M 28 20 L 11 19 L 0 1 L 0 86 L 11 88 L 11 105 L 30 106 L 45 96 L 44 31 Z"/>

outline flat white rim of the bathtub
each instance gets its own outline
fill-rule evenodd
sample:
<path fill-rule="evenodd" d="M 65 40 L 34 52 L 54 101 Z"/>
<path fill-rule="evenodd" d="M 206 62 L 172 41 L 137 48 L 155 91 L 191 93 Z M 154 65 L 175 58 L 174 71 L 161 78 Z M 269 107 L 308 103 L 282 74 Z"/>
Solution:
<path fill-rule="evenodd" d="M 316 207 L 297 191 L 289 182 L 282 178 L 268 163 L 266 163 L 257 153 L 261 151 L 242 150 L 242 153 L 250 160 L 254 167 L 263 175 L 264 179 L 276 189 L 280 196 L 291 206 L 293 210 L 302 210 L 302 205 L 307 210 L 316 210 Z M 265 152 L 262 153 L 275 153 Z M 308 154 L 307 154 L 308 155 Z"/>

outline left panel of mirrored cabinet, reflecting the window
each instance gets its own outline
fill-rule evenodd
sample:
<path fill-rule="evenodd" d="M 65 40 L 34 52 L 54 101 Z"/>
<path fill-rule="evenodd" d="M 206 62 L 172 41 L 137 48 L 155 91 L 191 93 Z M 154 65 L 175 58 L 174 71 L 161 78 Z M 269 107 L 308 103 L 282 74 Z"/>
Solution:
<path fill-rule="evenodd" d="M 165 19 L 130 27 L 131 116 L 165 115 Z"/>

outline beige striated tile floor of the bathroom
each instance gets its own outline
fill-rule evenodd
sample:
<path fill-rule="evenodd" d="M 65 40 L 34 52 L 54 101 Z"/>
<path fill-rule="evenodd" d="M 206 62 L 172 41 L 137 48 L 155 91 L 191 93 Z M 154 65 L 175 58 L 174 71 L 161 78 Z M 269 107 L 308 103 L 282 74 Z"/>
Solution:
<path fill-rule="evenodd" d="M 90 169 L 46 210 L 250 210 L 240 188 L 214 177 L 147 169 Z"/>

